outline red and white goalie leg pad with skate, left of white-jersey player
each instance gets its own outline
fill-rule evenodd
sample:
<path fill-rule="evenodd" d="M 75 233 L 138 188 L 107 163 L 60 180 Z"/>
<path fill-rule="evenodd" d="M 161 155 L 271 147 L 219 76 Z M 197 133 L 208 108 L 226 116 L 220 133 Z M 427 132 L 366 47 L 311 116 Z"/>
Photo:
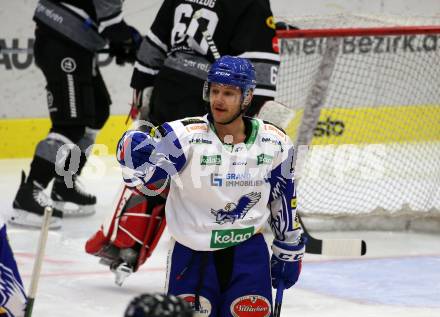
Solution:
<path fill-rule="evenodd" d="M 114 213 L 86 242 L 85 250 L 108 265 L 116 274 L 116 284 L 121 286 L 152 254 L 166 220 L 165 199 L 159 195 L 146 197 L 123 186 L 117 197 Z"/>

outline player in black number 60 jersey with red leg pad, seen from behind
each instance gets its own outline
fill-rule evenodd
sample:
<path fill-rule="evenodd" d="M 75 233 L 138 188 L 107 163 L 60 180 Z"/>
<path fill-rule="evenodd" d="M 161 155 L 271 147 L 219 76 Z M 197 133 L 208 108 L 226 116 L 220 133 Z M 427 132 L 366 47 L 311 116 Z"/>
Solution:
<path fill-rule="evenodd" d="M 257 87 L 246 114 L 257 114 L 266 101 L 275 97 L 280 59 L 272 48 L 274 37 L 269 0 L 164 0 L 137 53 L 131 79 L 132 117 L 138 115 L 140 107 L 141 119 L 153 125 L 205 114 L 207 106 L 201 92 L 218 55 L 241 56 L 252 61 Z M 211 38 L 215 49 L 208 44 Z M 130 197 L 127 192 L 131 190 L 124 188 L 117 197 L 116 201 L 126 203 L 115 206 L 108 222 L 112 226 L 101 227 L 86 244 L 88 253 L 110 265 L 118 285 L 153 252 L 165 225 L 165 198 L 136 192 Z M 129 220 L 123 225 L 117 220 L 124 213 L 135 212 L 154 217 L 127 216 L 124 219 Z M 124 229 L 118 230 L 119 225 Z M 118 237 L 124 230 L 141 227 L 146 228 L 145 234 L 134 229 L 132 236 L 136 239 Z"/>

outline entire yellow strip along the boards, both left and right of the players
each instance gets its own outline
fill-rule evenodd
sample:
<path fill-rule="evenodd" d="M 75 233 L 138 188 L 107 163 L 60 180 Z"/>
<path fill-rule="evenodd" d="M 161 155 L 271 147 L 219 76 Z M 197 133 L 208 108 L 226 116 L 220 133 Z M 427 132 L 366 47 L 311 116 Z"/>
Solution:
<path fill-rule="evenodd" d="M 298 111 L 286 129 L 292 140 L 301 117 Z M 104 145 L 108 154 L 115 153 L 119 138 L 128 128 L 125 119 L 124 115 L 111 116 L 98 134 L 96 143 Z M 314 137 L 313 145 L 440 141 L 440 105 L 323 109 L 319 121 L 323 127 L 327 122 L 343 122 L 344 131 Z M 50 126 L 48 118 L 0 120 L 0 159 L 32 157 Z M 102 147 L 96 149 L 105 154 Z"/>

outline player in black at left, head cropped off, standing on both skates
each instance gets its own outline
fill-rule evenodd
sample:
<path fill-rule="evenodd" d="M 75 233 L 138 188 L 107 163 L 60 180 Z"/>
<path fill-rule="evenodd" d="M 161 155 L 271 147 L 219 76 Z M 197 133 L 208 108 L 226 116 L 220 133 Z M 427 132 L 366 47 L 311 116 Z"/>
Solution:
<path fill-rule="evenodd" d="M 116 62 L 134 62 L 141 36 L 122 18 L 120 0 L 40 0 L 34 54 L 46 78 L 52 127 L 36 147 L 29 175 L 22 173 L 13 202 L 11 222 L 40 226 L 44 208 L 51 204 L 43 190 L 54 180 L 56 203 L 51 227 L 62 215 L 94 212 L 96 197 L 78 186 L 87 153 L 109 116 L 110 96 L 96 65 L 95 55 L 109 44 Z M 76 205 L 64 208 L 66 203 Z"/>

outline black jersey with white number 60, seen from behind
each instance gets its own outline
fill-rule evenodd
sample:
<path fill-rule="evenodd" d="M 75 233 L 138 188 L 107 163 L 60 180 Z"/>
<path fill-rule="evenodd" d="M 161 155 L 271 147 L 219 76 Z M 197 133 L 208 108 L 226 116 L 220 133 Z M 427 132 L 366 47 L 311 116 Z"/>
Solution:
<path fill-rule="evenodd" d="M 245 57 L 255 66 L 257 87 L 247 113 L 253 115 L 275 97 L 274 36 L 268 0 L 165 0 L 138 52 L 131 86 L 154 86 L 150 111 L 157 123 L 201 115 L 202 86 L 215 58 L 212 37 L 220 55 Z"/>

